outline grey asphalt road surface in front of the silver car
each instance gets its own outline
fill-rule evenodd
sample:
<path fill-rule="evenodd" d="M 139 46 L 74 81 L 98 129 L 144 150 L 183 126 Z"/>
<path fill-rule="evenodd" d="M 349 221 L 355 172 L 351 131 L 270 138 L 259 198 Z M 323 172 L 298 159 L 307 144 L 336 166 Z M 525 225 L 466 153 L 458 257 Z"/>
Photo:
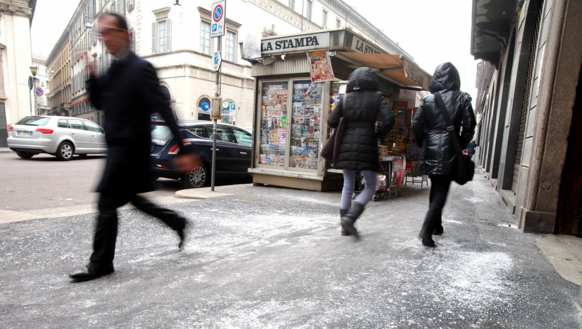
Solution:
<path fill-rule="evenodd" d="M 81 206 L 97 201 L 93 190 L 105 165 L 102 155 L 58 161 L 52 155 L 25 160 L 16 154 L 0 154 L 0 210 L 23 211 Z M 172 179 L 158 179 L 161 189 L 148 197 L 172 196 L 181 189 Z"/>

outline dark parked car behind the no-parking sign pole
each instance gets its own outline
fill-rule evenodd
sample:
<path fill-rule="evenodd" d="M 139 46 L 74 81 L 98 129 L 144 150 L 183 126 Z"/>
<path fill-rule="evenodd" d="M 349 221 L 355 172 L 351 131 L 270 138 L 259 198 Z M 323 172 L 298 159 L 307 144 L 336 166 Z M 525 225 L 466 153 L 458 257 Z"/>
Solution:
<path fill-rule="evenodd" d="M 212 122 L 178 122 L 183 143 L 191 147 L 202 159 L 202 164 L 187 174 L 174 170 L 172 158 L 178 154 L 179 145 L 163 121 L 152 122 L 151 158 L 155 175 L 180 179 L 184 188 L 201 188 L 210 183 L 212 167 Z M 217 178 L 250 178 L 251 146 L 253 136 L 244 129 L 226 123 L 217 126 Z"/>

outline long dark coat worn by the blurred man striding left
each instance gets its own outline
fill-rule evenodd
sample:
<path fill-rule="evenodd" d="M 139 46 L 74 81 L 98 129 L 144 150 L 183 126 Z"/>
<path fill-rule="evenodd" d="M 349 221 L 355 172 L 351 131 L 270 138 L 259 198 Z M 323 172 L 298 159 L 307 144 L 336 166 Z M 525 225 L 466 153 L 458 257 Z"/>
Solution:
<path fill-rule="evenodd" d="M 150 115 L 159 112 L 180 141 L 176 117 L 151 63 L 129 52 L 101 77 L 87 80 L 89 100 L 105 111 L 108 151 L 97 192 L 127 195 L 154 190 Z"/>

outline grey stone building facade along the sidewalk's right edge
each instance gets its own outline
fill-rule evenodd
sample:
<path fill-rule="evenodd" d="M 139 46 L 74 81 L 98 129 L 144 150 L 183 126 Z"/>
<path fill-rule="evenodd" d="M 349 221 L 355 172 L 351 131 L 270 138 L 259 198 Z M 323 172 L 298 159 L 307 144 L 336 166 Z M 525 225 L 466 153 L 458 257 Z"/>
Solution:
<path fill-rule="evenodd" d="M 478 165 L 526 232 L 582 234 L 582 2 L 473 0 Z"/>

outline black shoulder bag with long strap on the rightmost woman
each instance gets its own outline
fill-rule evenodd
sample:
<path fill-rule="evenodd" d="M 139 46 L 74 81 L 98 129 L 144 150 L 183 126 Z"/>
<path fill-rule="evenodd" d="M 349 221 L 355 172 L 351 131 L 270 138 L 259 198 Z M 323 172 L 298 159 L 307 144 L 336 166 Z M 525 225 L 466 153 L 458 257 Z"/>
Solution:
<path fill-rule="evenodd" d="M 469 155 L 463 154 L 463 149 L 459 143 L 459 136 L 455 131 L 455 126 L 450 121 L 449 112 L 446 110 L 445 102 L 442 100 L 441 93 L 434 93 L 435 100 L 437 100 L 437 107 L 441 108 L 442 117 L 445 119 L 446 130 L 449 132 L 450 140 L 455 147 L 455 164 L 453 164 L 450 176 L 453 181 L 459 185 L 464 185 L 469 181 L 473 181 L 473 174 L 475 173 L 475 163 L 471 161 Z"/>

